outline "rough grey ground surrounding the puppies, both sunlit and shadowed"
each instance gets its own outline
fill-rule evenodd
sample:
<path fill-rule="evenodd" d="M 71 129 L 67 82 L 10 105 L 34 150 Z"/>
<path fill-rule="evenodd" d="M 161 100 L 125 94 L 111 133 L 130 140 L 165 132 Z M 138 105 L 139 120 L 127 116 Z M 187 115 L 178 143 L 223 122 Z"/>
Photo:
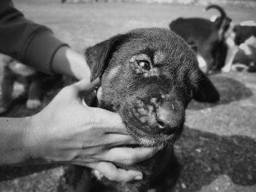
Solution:
<path fill-rule="evenodd" d="M 181 16 L 210 18 L 217 14 L 214 10 L 204 12 L 201 6 L 173 4 L 16 0 L 15 5 L 26 17 L 52 28 L 57 37 L 78 52 L 133 28 L 167 28 L 170 20 Z M 235 23 L 256 20 L 256 7 L 224 8 Z M 175 146 L 182 165 L 181 177 L 172 191 L 255 192 L 256 74 L 214 74 L 211 80 L 219 89 L 221 101 L 189 104 L 186 128 Z M 42 107 L 55 93 L 51 91 L 45 96 Z M 26 116 L 37 111 L 17 104 L 7 115 Z M 63 168 L 61 165 L 0 167 L 0 191 L 56 191 Z"/>

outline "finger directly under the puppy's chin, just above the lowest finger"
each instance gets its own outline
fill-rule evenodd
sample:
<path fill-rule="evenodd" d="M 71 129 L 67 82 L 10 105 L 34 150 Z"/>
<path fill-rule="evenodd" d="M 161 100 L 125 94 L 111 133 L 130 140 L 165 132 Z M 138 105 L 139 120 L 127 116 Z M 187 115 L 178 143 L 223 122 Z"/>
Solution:
<path fill-rule="evenodd" d="M 103 155 L 97 156 L 100 161 L 111 161 L 116 164 L 132 165 L 151 158 L 160 147 L 115 147 Z"/>

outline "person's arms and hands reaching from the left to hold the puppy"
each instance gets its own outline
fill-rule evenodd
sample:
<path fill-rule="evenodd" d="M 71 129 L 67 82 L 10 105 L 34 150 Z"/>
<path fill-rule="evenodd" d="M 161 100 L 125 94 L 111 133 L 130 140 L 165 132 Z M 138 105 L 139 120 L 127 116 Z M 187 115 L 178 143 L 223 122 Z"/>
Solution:
<path fill-rule="evenodd" d="M 0 52 L 42 72 L 83 79 L 62 89 L 37 115 L 0 118 L 0 166 L 65 162 L 89 166 L 110 180 L 142 178 L 141 172 L 117 169 L 114 164 L 134 164 L 159 149 L 118 147 L 134 143 L 120 116 L 80 101 L 80 91 L 94 89 L 83 56 L 48 28 L 26 20 L 9 0 L 0 0 Z"/>

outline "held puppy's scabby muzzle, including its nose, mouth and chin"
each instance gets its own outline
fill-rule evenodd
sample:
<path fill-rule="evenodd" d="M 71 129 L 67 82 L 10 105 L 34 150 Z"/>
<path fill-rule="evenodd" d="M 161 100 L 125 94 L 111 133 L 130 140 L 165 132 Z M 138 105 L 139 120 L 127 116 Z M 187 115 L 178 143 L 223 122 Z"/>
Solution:
<path fill-rule="evenodd" d="M 180 112 L 169 101 L 157 100 L 136 99 L 132 106 L 126 105 L 121 112 L 127 131 L 140 145 L 173 145 L 183 131 L 183 108 Z"/>

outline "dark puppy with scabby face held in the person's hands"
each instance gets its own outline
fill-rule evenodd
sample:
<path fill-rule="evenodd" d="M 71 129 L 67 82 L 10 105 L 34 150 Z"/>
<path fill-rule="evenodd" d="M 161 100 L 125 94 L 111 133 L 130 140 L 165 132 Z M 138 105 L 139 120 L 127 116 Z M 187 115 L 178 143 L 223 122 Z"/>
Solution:
<path fill-rule="evenodd" d="M 83 192 L 164 191 L 167 180 L 173 184 L 178 177 L 173 143 L 183 130 L 189 101 L 218 101 L 219 93 L 198 68 L 189 46 L 167 29 L 141 28 L 117 35 L 89 47 L 86 58 L 92 80 L 102 80 L 98 107 L 118 112 L 139 145 L 164 148 L 140 164 L 118 165 L 142 171 L 141 181 L 97 180 L 90 169 L 73 166 L 64 175 L 69 187 Z"/>

